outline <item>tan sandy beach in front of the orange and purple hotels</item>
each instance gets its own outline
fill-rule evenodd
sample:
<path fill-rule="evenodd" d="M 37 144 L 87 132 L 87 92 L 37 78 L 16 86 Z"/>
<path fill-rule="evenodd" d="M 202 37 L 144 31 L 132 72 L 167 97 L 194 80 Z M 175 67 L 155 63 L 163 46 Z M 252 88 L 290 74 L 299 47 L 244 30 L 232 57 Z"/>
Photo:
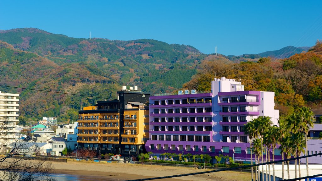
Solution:
<path fill-rule="evenodd" d="M 171 176 L 195 172 L 210 171 L 211 169 L 194 169 L 186 167 L 169 167 L 169 166 L 154 166 L 140 164 L 125 164 L 125 163 L 91 163 L 68 161 L 67 163 L 52 162 L 55 167 L 54 173 L 77 175 L 86 179 L 93 180 L 110 180 L 122 181 L 140 178 L 150 178 L 158 176 Z M 194 176 L 182 176 L 159 180 L 174 180 L 174 181 L 248 181 L 251 180 L 250 173 L 240 173 L 235 171 L 223 171 L 216 173 L 200 174 Z"/>

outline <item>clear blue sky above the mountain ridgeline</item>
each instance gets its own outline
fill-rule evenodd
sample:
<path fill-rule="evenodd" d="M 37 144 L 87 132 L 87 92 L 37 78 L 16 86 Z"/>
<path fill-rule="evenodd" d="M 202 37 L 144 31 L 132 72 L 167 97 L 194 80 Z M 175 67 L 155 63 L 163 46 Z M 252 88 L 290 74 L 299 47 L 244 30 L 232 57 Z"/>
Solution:
<path fill-rule="evenodd" d="M 0 29 L 155 39 L 203 53 L 260 53 L 322 39 L 322 1 L 1 1 Z"/>

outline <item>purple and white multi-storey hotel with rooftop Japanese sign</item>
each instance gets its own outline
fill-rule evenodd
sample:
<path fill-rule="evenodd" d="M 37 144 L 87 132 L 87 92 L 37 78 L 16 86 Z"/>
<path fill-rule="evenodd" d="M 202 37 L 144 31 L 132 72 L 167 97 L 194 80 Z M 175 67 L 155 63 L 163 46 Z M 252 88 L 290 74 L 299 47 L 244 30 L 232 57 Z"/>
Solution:
<path fill-rule="evenodd" d="M 178 91 L 150 96 L 150 131 L 145 148 L 161 153 L 226 153 L 236 161 L 250 158 L 244 124 L 269 116 L 278 125 L 274 92 L 244 91 L 234 79 L 212 81 L 212 91 Z"/>

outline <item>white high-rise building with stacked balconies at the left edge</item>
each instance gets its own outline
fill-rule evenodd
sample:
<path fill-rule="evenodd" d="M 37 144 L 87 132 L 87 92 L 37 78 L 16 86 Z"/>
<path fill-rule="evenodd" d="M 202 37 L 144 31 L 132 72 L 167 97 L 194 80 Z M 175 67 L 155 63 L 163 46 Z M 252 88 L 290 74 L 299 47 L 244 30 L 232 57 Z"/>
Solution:
<path fill-rule="evenodd" d="M 0 146 L 9 144 L 18 138 L 19 94 L 1 93 L 0 91 Z"/>

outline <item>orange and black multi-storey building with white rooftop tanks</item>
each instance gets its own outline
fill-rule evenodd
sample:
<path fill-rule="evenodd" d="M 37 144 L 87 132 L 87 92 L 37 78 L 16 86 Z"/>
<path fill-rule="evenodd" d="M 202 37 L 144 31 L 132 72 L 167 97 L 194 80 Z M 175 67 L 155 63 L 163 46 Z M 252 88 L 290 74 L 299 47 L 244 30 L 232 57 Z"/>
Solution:
<path fill-rule="evenodd" d="M 122 156 L 144 152 L 149 138 L 150 95 L 125 86 L 117 93 L 118 100 L 98 101 L 79 111 L 79 148 Z"/>

